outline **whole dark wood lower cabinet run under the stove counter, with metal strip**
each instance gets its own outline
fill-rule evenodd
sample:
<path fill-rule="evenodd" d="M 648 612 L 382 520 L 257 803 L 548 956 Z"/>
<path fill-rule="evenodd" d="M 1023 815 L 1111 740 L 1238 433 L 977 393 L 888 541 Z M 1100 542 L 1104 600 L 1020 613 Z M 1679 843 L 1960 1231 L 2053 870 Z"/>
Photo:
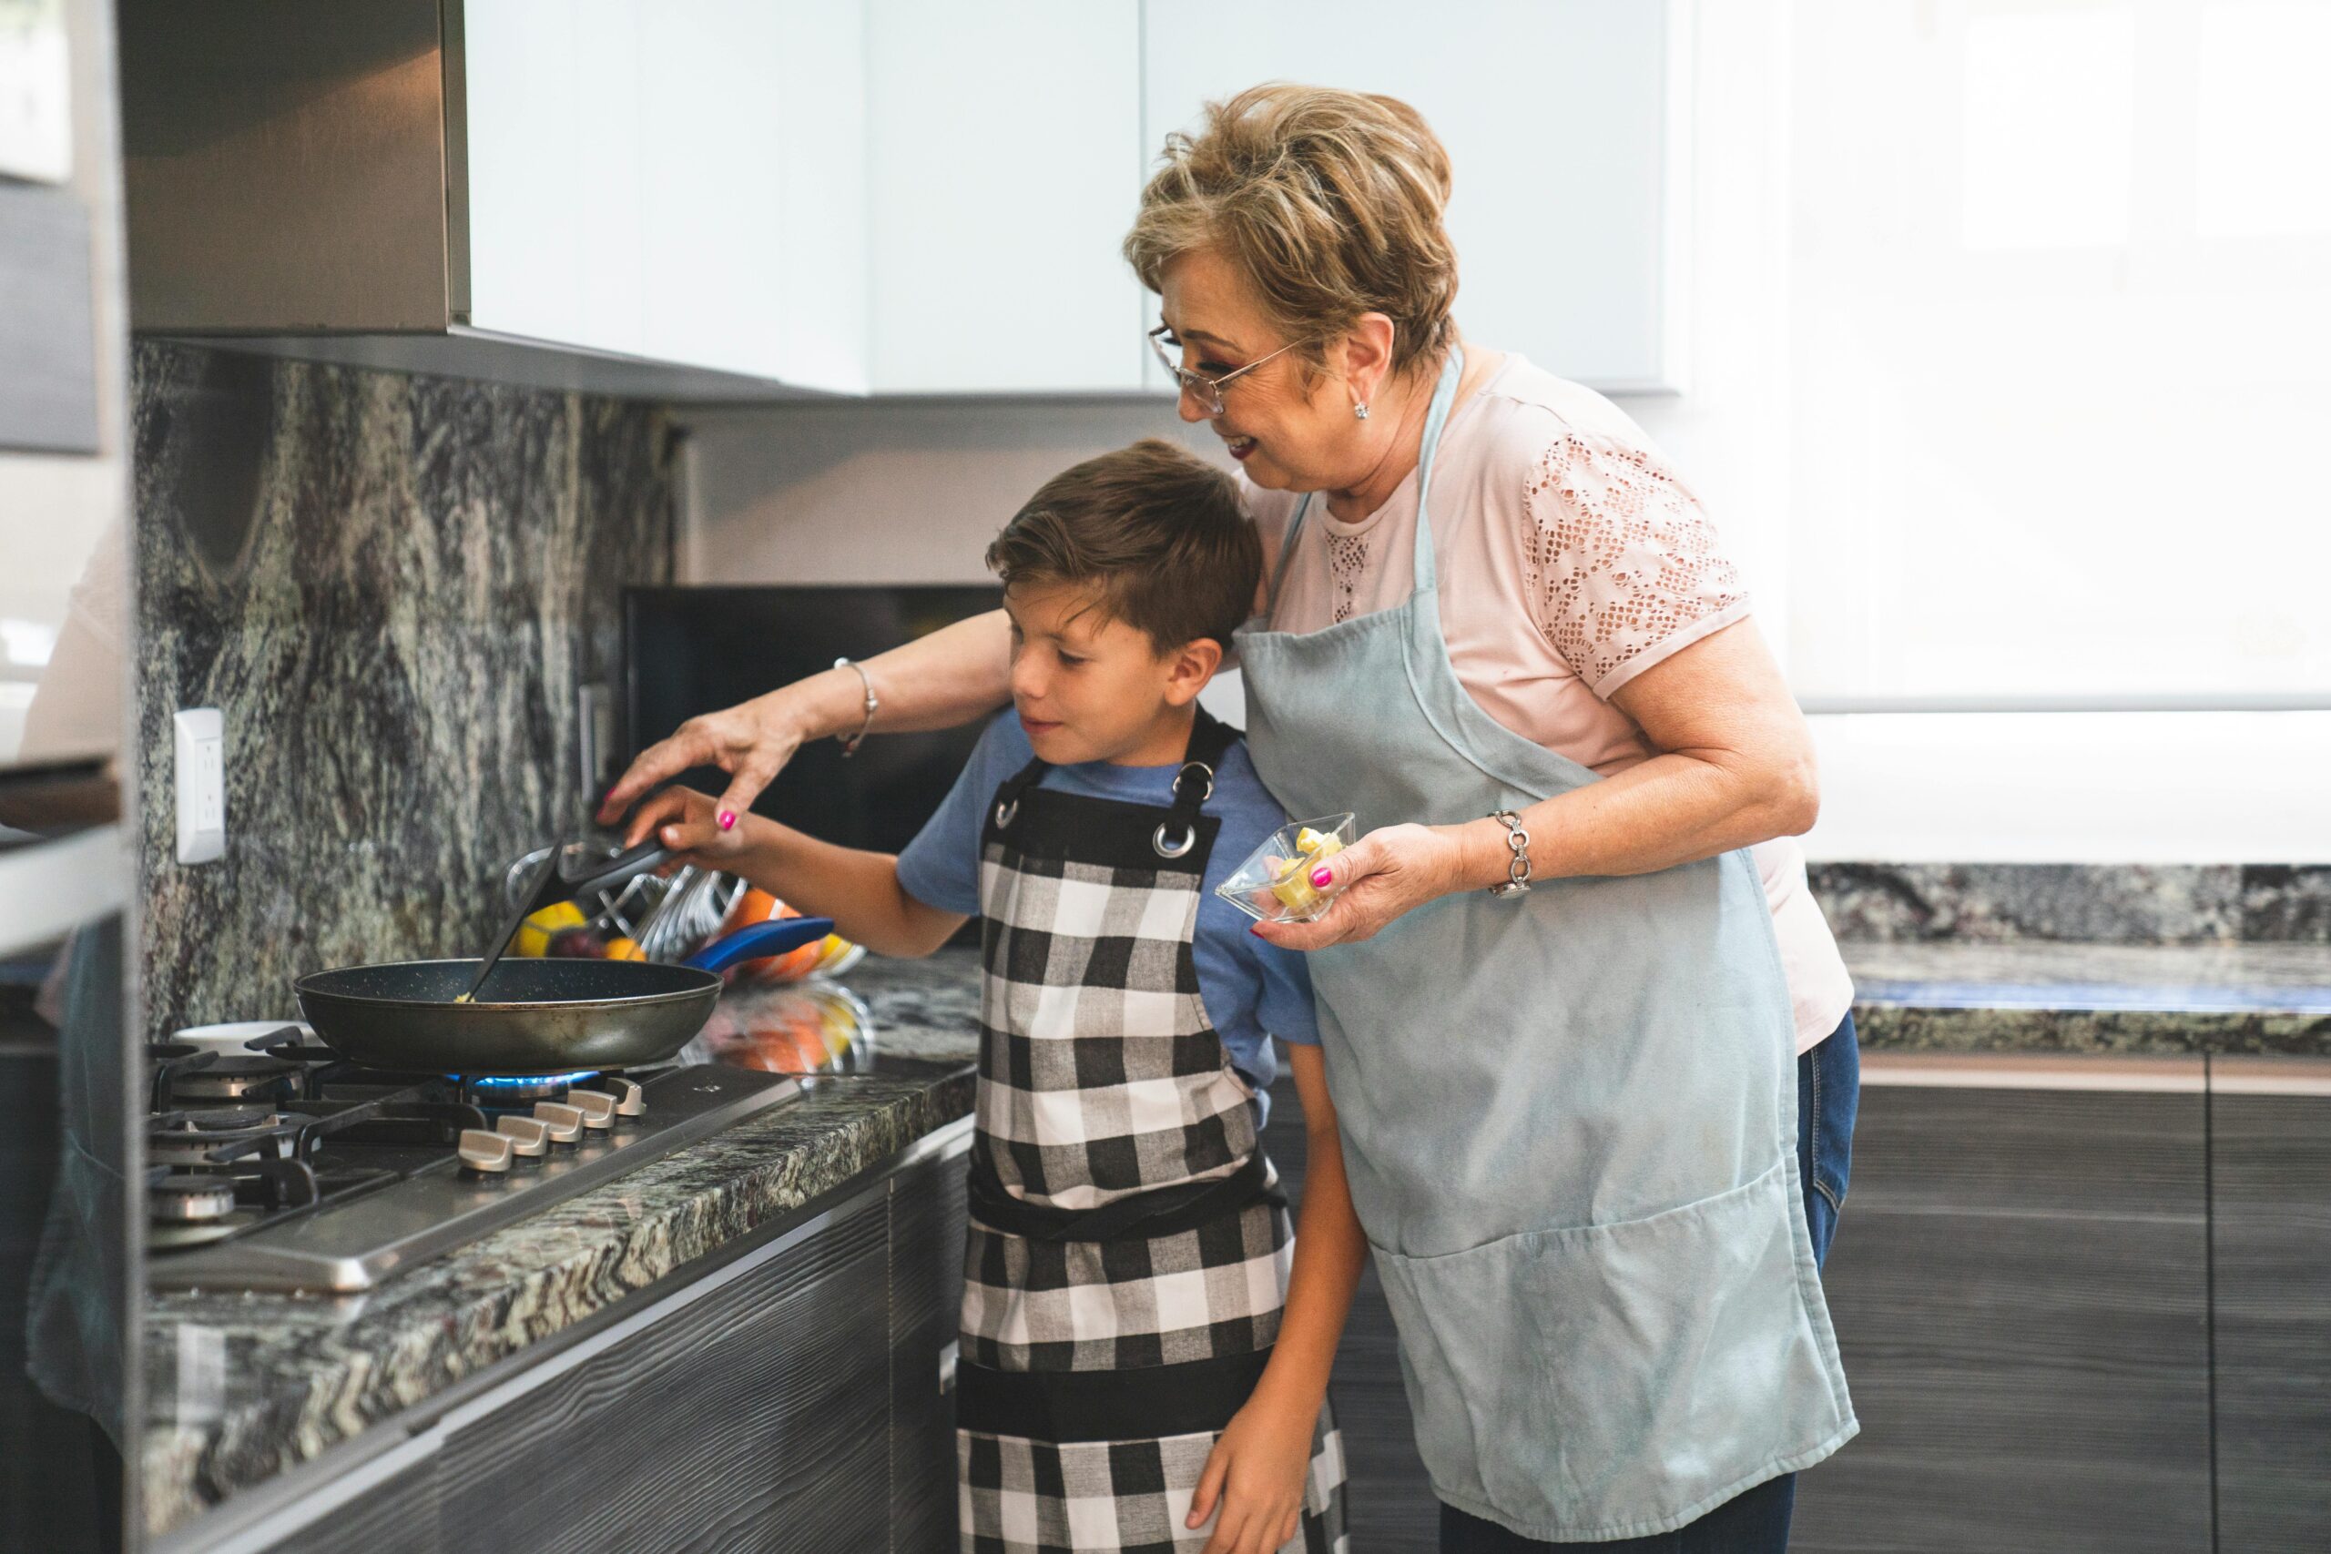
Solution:
<path fill-rule="evenodd" d="M 963 1291 L 965 1142 L 928 1142 L 839 1207 L 226 1542 L 266 1554 L 953 1549 L 942 1382 Z"/>

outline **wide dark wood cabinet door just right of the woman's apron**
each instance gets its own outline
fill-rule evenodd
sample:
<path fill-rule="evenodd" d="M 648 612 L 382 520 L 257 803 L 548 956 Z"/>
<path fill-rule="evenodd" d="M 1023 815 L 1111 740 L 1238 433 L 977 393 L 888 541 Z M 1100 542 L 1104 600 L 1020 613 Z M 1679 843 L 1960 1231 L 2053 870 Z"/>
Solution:
<path fill-rule="evenodd" d="M 1872 1083 L 1797 1549 L 2210 1545 L 2203 1095 Z"/>

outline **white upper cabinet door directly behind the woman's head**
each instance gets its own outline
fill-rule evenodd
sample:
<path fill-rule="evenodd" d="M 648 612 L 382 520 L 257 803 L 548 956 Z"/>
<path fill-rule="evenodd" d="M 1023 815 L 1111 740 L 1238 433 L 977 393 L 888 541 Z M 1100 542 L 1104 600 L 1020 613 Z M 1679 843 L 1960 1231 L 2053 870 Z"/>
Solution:
<path fill-rule="evenodd" d="M 1415 105 L 1455 168 L 1466 338 L 1599 389 L 1678 387 L 1667 0 L 1172 0 L 1145 7 L 1142 42 L 1152 154 L 1259 82 Z"/>

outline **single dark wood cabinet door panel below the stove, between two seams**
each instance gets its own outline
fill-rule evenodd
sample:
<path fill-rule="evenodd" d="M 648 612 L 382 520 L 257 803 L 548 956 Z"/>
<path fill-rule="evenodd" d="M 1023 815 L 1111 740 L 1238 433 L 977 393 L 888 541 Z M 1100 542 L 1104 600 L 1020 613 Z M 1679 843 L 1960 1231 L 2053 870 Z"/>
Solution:
<path fill-rule="evenodd" d="M 455 1431 L 443 1542 L 543 1554 L 888 1542 L 888 1205 Z"/>

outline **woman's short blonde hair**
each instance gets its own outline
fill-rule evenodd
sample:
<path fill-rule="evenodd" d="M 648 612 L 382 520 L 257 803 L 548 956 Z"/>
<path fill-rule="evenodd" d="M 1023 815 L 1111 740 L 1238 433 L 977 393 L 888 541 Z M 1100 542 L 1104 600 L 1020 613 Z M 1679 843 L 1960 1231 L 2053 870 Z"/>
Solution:
<path fill-rule="evenodd" d="M 1268 82 L 1207 103 L 1205 126 L 1168 135 L 1161 161 L 1126 233 L 1126 261 L 1152 291 L 1175 259 L 1214 247 L 1312 359 L 1366 312 L 1392 319 L 1394 370 L 1448 349 L 1450 158 L 1417 110 Z"/>

